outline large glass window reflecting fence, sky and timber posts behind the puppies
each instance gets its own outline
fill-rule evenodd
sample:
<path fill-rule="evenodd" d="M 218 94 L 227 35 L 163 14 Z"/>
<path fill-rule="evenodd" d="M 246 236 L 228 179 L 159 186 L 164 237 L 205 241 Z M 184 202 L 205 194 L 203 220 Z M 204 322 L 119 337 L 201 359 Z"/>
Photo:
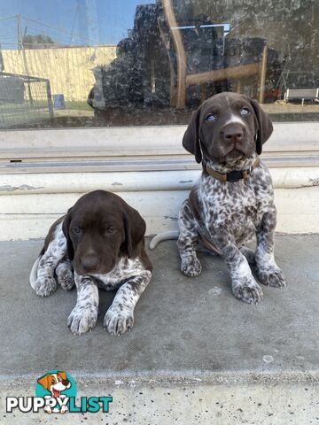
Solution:
<path fill-rule="evenodd" d="M 316 0 L 4 0 L 0 128 L 185 124 L 224 90 L 319 118 Z"/>

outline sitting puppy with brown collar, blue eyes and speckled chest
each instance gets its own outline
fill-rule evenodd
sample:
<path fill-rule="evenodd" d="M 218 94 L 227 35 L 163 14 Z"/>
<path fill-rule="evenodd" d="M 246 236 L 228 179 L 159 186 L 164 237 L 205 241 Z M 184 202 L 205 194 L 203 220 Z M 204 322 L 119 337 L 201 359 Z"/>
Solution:
<path fill-rule="evenodd" d="M 262 298 L 248 262 L 255 264 L 261 283 L 285 286 L 274 259 L 276 207 L 268 167 L 259 155 L 273 131 L 268 115 L 257 101 L 236 93 L 206 100 L 183 136 L 203 173 L 179 214 L 178 249 L 182 272 L 196 276 L 201 265 L 197 243 L 218 253 L 230 270 L 236 298 L 255 304 Z M 256 235 L 255 253 L 245 243 Z M 174 233 L 155 236 L 150 247 Z"/>

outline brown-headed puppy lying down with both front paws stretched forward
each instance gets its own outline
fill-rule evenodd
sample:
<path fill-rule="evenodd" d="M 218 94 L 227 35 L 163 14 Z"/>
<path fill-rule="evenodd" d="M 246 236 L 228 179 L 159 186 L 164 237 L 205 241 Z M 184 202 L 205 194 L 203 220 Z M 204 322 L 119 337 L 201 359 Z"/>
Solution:
<path fill-rule="evenodd" d="M 55 274 L 64 290 L 75 282 L 77 302 L 67 326 L 79 335 L 96 325 L 98 287 L 118 289 L 104 325 L 120 335 L 133 327 L 134 308 L 152 276 L 144 233 L 144 220 L 121 197 L 90 192 L 51 226 L 32 268 L 31 286 L 48 297 L 57 289 Z"/>

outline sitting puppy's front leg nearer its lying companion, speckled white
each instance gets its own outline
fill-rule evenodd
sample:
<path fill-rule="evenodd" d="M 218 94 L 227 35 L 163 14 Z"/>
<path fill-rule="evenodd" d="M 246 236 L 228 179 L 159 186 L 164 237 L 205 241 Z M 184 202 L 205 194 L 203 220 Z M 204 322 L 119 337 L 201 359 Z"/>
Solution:
<path fill-rule="evenodd" d="M 233 237 L 222 227 L 214 228 L 211 235 L 230 270 L 232 293 L 245 303 L 257 304 L 262 298 L 261 287 L 254 280 L 248 261 L 237 249 Z"/>

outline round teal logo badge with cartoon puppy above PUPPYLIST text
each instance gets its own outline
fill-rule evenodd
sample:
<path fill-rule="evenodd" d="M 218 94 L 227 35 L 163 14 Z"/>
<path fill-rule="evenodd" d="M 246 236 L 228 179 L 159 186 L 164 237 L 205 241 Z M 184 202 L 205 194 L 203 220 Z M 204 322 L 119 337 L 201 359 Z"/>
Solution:
<path fill-rule="evenodd" d="M 62 371 L 50 371 L 37 380 L 35 395 L 45 399 L 46 413 L 66 413 L 70 396 L 75 396 L 76 384 Z M 71 389 L 71 390 L 70 390 Z"/>

